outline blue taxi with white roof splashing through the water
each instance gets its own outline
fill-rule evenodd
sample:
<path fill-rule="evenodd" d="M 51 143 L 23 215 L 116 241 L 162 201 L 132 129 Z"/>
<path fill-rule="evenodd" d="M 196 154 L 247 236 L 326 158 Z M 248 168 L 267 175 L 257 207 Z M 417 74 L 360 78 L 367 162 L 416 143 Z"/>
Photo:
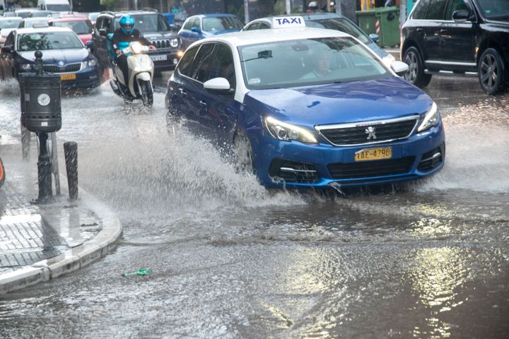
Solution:
<path fill-rule="evenodd" d="M 300 20 L 192 44 L 168 81 L 168 124 L 228 145 L 237 169 L 267 187 L 394 183 L 442 168 L 440 114 L 398 76 L 408 66 L 389 69 L 351 35 Z"/>

